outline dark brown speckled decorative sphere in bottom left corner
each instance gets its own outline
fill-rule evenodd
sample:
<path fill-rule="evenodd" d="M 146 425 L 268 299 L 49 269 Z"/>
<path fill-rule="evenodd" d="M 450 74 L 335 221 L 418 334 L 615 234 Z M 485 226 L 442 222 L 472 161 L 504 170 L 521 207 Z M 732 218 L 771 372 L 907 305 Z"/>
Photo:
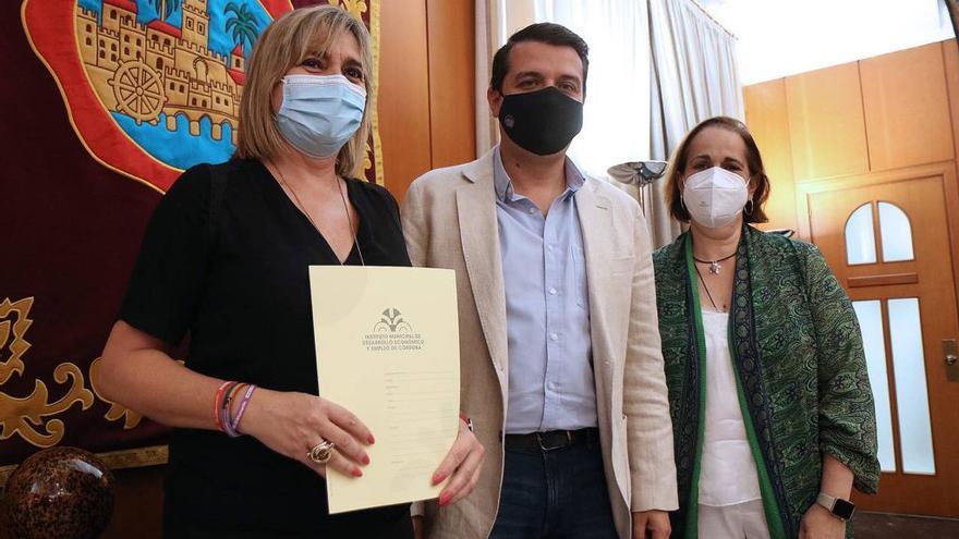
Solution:
<path fill-rule="evenodd" d="M 96 539 L 113 515 L 113 474 L 82 449 L 40 451 L 7 479 L 3 511 L 17 539 Z"/>

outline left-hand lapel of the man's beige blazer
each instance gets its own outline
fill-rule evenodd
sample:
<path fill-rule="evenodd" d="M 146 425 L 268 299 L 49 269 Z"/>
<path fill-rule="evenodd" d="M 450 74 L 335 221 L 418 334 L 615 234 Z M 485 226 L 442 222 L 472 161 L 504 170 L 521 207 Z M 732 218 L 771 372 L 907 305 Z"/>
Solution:
<path fill-rule="evenodd" d="M 470 183 L 457 191 L 460 241 L 480 323 L 489 348 L 500 390 L 506 395 L 509 358 L 506 329 L 506 292 L 493 185 L 493 154 L 464 171 Z"/>

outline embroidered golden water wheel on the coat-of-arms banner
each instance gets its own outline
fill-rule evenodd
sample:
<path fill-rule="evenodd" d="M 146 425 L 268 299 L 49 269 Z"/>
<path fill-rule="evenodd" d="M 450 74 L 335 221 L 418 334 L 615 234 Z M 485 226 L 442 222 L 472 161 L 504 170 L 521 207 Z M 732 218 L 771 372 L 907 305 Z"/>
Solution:
<path fill-rule="evenodd" d="M 136 120 L 137 125 L 155 123 L 167 102 L 160 75 L 141 61 L 123 62 L 110 79 L 110 86 L 117 98 L 117 110 Z"/>

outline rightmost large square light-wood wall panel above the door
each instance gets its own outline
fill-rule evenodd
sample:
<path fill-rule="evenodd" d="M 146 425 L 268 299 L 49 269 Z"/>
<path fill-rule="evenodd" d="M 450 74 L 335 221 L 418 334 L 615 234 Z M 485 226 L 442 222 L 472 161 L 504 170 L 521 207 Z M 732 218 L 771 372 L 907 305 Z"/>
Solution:
<path fill-rule="evenodd" d="M 871 170 L 952 159 L 943 46 L 860 62 Z"/>

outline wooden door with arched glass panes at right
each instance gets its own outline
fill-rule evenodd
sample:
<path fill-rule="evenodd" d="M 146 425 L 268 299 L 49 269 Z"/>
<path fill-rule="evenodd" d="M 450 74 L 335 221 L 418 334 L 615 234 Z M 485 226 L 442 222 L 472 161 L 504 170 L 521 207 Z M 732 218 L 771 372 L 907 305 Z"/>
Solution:
<path fill-rule="evenodd" d="M 959 381 L 944 353 L 959 339 L 955 182 L 944 164 L 803 188 L 805 232 L 853 302 L 876 401 L 883 474 L 861 509 L 959 516 Z"/>

